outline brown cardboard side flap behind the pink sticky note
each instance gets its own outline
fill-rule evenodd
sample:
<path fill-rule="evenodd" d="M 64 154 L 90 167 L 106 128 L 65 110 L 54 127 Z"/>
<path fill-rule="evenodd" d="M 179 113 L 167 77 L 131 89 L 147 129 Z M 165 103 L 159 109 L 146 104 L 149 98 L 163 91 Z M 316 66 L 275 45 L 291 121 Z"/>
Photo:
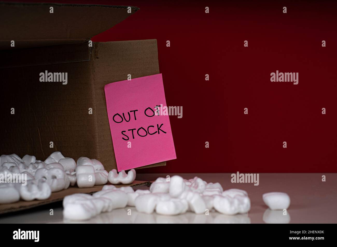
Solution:
<path fill-rule="evenodd" d="M 123 81 L 127 74 L 131 78 L 158 74 L 157 41 L 133 40 L 97 42 L 93 49 L 93 87 L 96 103 L 97 150 L 100 160 L 116 167 L 115 155 L 111 152 L 111 131 L 106 112 L 104 86 L 110 82 Z M 109 163 L 113 161 L 113 163 Z M 155 164 L 165 165 L 166 162 Z M 148 165 L 144 167 L 151 167 Z M 110 166 L 108 166 L 110 167 Z M 143 167 L 143 168 L 144 168 Z"/>

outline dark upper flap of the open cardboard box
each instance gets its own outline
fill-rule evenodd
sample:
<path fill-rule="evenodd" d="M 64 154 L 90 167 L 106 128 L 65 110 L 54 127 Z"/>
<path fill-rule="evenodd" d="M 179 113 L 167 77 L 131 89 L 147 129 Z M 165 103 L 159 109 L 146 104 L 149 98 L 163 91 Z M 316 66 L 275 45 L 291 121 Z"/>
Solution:
<path fill-rule="evenodd" d="M 50 13 L 50 7 L 53 12 Z M 0 3 L 0 49 L 15 49 L 88 41 L 139 10 L 130 6 L 56 3 Z"/>

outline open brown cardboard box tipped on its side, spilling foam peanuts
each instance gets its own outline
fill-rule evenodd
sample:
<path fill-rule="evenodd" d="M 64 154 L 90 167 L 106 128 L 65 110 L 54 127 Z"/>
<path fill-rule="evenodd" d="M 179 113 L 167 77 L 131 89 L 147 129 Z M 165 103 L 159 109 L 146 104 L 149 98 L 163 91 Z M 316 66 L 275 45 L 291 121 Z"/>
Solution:
<path fill-rule="evenodd" d="M 137 10 L 0 3 L 1 154 L 30 154 L 44 160 L 60 151 L 75 160 L 98 159 L 107 171 L 117 168 L 104 85 L 126 80 L 128 74 L 132 78 L 158 74 L 157 41 L 93 42 L 92 47 L 88 41 Z M 45 71 L 67 72 L 67 84 L 40 82 L 39 74 Z"/>

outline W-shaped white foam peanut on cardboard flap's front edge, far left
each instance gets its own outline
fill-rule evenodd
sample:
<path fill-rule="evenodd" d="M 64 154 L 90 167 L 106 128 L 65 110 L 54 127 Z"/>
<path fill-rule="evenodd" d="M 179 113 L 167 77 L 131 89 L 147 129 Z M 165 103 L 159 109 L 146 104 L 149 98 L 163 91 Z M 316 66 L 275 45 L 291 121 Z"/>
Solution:
<path fill-rule="evenodd" d="M 21 185 L 20 187 L 21 199 L 25 201 L 48 199 L 51 193 L 49 184 L 42 179 L 29 180 L 27 185 Z"/>

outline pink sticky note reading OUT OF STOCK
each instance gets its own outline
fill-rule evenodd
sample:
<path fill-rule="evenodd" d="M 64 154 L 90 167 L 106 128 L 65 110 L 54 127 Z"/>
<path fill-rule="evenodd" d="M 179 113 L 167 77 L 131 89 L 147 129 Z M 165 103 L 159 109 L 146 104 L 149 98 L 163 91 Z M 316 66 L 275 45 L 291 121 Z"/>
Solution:
<path fill-rule="evenodd" d="M 161 74 L 110 83 L 104 91 L 118 171 L 176 159 L 170 119 L 156 114 L 155 106 L 166 106 Z"/>

